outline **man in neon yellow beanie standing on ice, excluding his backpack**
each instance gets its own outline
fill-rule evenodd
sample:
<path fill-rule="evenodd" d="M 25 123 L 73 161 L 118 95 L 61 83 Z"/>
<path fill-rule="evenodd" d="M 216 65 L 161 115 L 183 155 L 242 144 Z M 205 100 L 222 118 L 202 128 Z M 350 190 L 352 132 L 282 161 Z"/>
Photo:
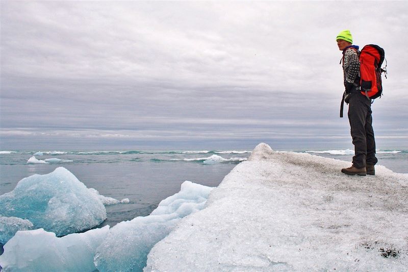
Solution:
<path fill-rule="evenodd" d="M 348 106 L 351 137 L 354 144 L 352 166 L 341 171 L 347 175 L 375 175 L 374 165 L 375 140 L 371 117 L 371 100 L 360 91 L 359 46 L 352 45 L 349 30 L 344 30 L 336 37 L 339 50 L 343 51 L 345 102 Z"/>

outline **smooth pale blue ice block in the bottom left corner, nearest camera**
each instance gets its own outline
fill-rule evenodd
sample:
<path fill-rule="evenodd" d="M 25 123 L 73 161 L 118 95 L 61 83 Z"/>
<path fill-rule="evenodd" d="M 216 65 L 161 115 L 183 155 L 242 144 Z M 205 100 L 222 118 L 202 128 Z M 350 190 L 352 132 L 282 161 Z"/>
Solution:
<path fill-rule="evenodd" d="M 43 229 L 19 231 L 4 246 L 5 271 L 95 271 L 93 256 L 109 226 L 56 237 Z"/>

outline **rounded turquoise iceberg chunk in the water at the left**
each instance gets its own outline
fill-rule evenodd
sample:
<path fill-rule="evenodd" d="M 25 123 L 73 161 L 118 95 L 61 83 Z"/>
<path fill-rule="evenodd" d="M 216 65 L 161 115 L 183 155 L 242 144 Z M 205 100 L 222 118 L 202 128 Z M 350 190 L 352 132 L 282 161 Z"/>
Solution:
<path fill-rule="evenodd" d="M 106 219 L 105 206 L 95 191 L 58 167 L 49 174 L 22 179 L 13 191 L 0 195 L 0 214 L 28 219 L 33 228 L 57 236 L 88 230 Z"/>

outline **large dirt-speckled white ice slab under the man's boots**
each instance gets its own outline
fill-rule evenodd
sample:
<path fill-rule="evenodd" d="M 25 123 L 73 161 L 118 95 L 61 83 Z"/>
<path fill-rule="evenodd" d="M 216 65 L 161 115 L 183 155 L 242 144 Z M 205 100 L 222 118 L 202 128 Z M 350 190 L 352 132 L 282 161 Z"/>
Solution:
<path fill-rule="evenodd" d="M 150 251 L 145 271 L 405 271 L 408 174 L 260 144 Z"/>

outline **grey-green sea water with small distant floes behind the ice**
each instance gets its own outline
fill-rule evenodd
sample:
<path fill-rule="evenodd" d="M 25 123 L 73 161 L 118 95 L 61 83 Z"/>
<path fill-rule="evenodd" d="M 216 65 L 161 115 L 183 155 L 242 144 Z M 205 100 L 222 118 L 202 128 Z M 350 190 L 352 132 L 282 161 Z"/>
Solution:
<path fill-rule="evenodd" d="M 351 161 L 351 150 L 296 150 Z M 107 220 L 98 227 L 115 226 L 147 216 L 161 200 L 180 191 L 188 180 L 216 187 L 250 151 L 0 151 L 0 195 L 34 174 L 48 174 L 63 166 L 88 188 L 126 204 L 107 206 Z M 378 150 L 378 164 L 408 173 L 408 151 Z M 2 248 L 0 246 L 0 254 Z"/>

